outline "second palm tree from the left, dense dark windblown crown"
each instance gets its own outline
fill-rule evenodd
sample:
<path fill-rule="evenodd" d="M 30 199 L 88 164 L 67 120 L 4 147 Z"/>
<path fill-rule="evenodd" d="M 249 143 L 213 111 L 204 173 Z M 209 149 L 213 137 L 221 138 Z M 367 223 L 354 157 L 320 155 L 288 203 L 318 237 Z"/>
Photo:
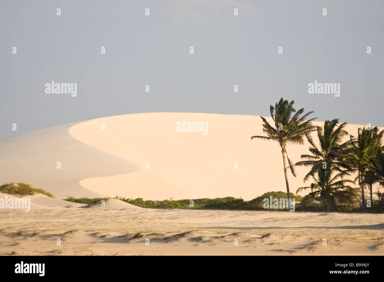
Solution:
<path fill-rule="evenodd" d="M 307 134 L 308 142 L 311 147 L 309 151 L 313 155 L 301 155 L 301 158 L 306 159 L 301 162 L 297 162 L 295 165 L 303 167 L 311 167 L 310 172 L 304 177 L 304 182 L 307 181 L 310 176 L 318 175 L 318 178 L 321 178 L 319 175 L 324 175 L 323 180 L 326 182 L 324 185 L 324 192 L 326 193 L 324 198 L 324 207 L 326 211 L 330 211 L 329 205 L 331 203 L 331 196 L 328 191 L 330 188 L 329 180 L 331 180 L 331 173 L 333 171 L 338 171 L 339 173 L 343 172 L 342 169 L 345 169 L 346 172 L 351 170 L 346 163 L 341 161 L 344 150 L 347 148 L 347 145 L 341 142 L 343 138 L 348 135 L 348 132 L 344 130 L 346 127 L 346 122 L 339 124 L 338 119 L 333 119 L 331 121 L 326 120 L 323 127 L 317 127 L 317 136 L 319 139 L 320 147 L 316 146 L 313 141 L 313 138 L 310 134 Z M 319 172 L 322 173 L 319 173 Z M 348 174 L 348 173 L 347 173 Z M 345 175 L 345 174 L 343 174 Z"/>

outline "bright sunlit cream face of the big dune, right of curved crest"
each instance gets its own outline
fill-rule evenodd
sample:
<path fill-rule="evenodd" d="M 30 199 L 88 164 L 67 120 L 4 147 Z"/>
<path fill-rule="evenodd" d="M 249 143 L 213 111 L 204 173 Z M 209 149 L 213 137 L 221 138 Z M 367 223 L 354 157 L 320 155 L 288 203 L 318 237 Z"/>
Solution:
<path fill-rule="evenodd" d="M 176 122 L 208 122 L 207 135 L 177 132 Z M 270 119 L 270 118 L 269 118 Z M 271 120 L 271 119 L 270 119 Z M 101 130 L 101 124 L 105 130 Z M 323 122 L 315 122 L 323 125 Z M 348 125 L 356 135 L 360 125 Z M 281 149 L 275 142 L 250 140 L 264 135 L 258 116 L 197 113 L 129 114 L 88 120 L 73 125 L 69 133 L 92 147 L 135 163 L 139 170 L 124 175 L 88 178 L 85 188 L 109 195 L 151 200 L 215 198 L 251 200 L 267 191 L 286 191 Z M 348 137 L 346 137 L 347 139 Z M 305 145 L 288 146 L 297 162 L 308 152 Z M 235 162 L 238 169 L 235 169 Z M 149 169 L 146 168 L 149 164 Z M 291 192 L 301 186 L 308 172 L 291 174 Z M 304 193 L 303 193 L 304 194 Z M 105 195 L 105 192 L 104 192 Z"/>

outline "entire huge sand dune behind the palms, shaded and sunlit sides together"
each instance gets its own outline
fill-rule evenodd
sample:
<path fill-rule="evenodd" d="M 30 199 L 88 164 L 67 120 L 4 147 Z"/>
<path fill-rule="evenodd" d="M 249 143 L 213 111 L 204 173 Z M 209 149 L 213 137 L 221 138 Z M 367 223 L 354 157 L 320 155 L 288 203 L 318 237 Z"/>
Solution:
<path fill-rule="evenodd" d="M 176 122 L 183 119 L 208 122 L 208 134 L 176 132 Z M 358 127 L 347 130 L 356 135 Z M 267 191 L 286 191 L 280 147 L 250 140 L 252 135 L 264 135 L 258 116 L 147 113 L 60 125 L 0 139 L 0 183 L 25 182 L 58 199 L 250 200 Z M 287 150 L 297 162 L 308 153 L 308 143 Z M 303 183 L 307 171 L 297 168 L 296 178 L 288 174 L 291 192 L 309 186 Z"/>

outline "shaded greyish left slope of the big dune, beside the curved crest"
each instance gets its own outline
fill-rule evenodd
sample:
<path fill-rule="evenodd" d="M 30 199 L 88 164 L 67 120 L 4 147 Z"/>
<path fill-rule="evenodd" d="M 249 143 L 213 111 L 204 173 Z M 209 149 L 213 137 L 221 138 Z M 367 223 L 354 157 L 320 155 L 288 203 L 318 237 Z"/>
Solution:
<path fill-rule="evenodd" d="M 79 142 L 68 134 L 74 124 L 0 139 L 0 185 L 24 182 L 56 198 L 101 197 L 79 184 L 84 178 L 134 172 L 133 163 Z M 61 162 L 61 169 L 57 169 Z"/>

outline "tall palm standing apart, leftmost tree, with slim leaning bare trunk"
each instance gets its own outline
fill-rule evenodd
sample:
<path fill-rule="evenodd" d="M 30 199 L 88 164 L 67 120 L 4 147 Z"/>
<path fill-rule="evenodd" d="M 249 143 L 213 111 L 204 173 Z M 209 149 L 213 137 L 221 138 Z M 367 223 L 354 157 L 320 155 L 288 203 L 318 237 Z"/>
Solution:
<path fill-rule="evenodd" d="M 312 114 L 313 112 L 308 112 L 300 117 L 300 115 L 303 114 L 304 109 L 296 111 L 293 108 L 294 103 L 295 101 L 288 102 L 288 100 L 284 100 L 281 97 L 280 101 L 275 104 L 275 107 L 272 105 L 270 106 L 271 117 L 275 123 L 274 126 L 270 125 L 264 117 L 260 117 L 263 120 L 263 132 L 267 136 L 255 135 L 251 137 L 251 139 L 260 138 L 263 140 L 274 140 L 279 143 L 281 147 L 281 154 L 283 155 L 284 175 L 288 201 L 290 199 L 290 191 L 285 158 L 288 160 L 288 164 L 293 176 L 296 177 L 296 173 L 294 165 L 292 164 L 290 158 L 288 158 L 286 146 L 290 143 L 303 145 L 303 136 L 314 130 L 314 126 L 311 122 L 314 119 L 305 120 L 308 115 Z"/>

